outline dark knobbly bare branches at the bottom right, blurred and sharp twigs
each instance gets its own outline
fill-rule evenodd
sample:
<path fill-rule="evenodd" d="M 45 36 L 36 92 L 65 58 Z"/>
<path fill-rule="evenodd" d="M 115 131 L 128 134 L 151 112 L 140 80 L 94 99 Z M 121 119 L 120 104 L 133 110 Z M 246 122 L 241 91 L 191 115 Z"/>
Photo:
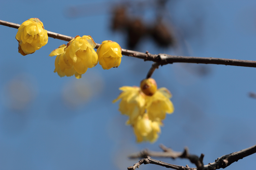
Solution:
<path fill-rule="evenodd" d="M 147 151 L 147 153 L 152 154 L 152 156 L 157 156 L 157 157 L 168 157 L 167 155 L 169 154 L 170 158 L 188 158 L 191 162 L 195 161 L 195 158 L 198 158 L 196 155 L 189 155 L 188 153 L 186 153 L 186 149 L 185 151 L 180 155 L 181 152 L 174 152 L 172 151 L 170 148 L 166 148 L 165 146 L 163 146 L 163 150 L 164 152 L 161 152 L 162 155 L 160 154 L 160 152 L 153 152 L 153 151 Z M 145 154 L 146 150 L 143 150 L 139 153 L 135 153 L 132 154 L 130 156 L 130 158 L 139 158 L 141 157 L 143 154 Z M 166 154 L 166 152 L 169 152 L 168 154 Z M 173 152 L 173 153 L 172 153 Z M 214 163 L 209 163 L 208 165 L 205 166 L 200 166 L 198 164 L 196 164 L 196 162 L 192 162 L 194 164 L 196 164 L 196 168 L 190 168 L 188 167 L 188 165 L 186 165 L 186 167 L 184 166 L 178 166 L 178 165 L 173 165 L 173 164 L 169 164 L 169 163 L 165 163 L 159 160 L 155 160 L 155 159 L 151 159 L 149 156 L 145 156 L 144 159 L 141 159 L 138 163 L 134 164 L 134 166 L 130 166 L 128 167 L 128 170 L 134 170 L 137 167 L 139 167 L 141 164 L 156 164 L 156 165 L 160 165 L 160 166 L 164 166 L 167 168 L 172 168 L 172 169 L 179 169 L 179 170 L 199 170 L 199 169 L 203 169 L 203 170 L 215 170 L 215 169 L 220 169 L 220 168 L 225 168 L 229 165 L 231 165 L 232 163 L 238 161 L 239 159 L 243 159 L 246 156 L 249 156 L 253 153 L 256 152 L 256 145 L 249 147 L 247 149 L 243 149 L 239 152 L 233 152 L 227 155 L 224 155 L 218 159 L 215 160 Z M 183 155 L 183 156 L 182 156 Z M 203 157 L 204 155 L 201 154 L 201 156 L 197 159 L 197 162 L 202 162 L 203 163 Z"/>

